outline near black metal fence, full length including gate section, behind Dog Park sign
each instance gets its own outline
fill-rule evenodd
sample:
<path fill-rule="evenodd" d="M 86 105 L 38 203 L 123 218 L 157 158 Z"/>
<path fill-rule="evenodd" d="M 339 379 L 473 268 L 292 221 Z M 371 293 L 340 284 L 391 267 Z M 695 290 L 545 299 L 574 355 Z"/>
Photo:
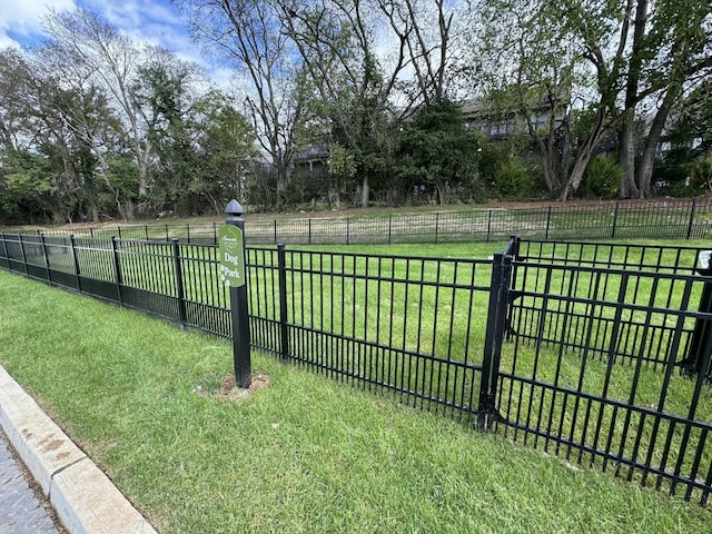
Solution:
<path fill-rule="evenodd" d="M 708 504 L 700 251 L 518 238 L 483 260 L 248 247 L 251 343 Z M 0 234 L 0 268 L 231 335 L 211 245 Z"/>

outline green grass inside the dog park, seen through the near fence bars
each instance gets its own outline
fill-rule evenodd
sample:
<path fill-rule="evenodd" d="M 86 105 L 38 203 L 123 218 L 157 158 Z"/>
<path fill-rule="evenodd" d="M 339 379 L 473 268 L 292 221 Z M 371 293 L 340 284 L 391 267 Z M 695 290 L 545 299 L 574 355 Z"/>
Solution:
<path fill-rule="evenodd" d="M 125 284 L 147 291 L 175 295 L 175 266 L 171 245 L 151 244 L 150 249 L 147 247 L 149 246 L 134 241 L 125 241 L 120 246 L 119 255 Z M 451 258 L 483 258 L 496 250 L 502 250 L 504 244 L 456 244 L 448 245 L 445 251 Z M 558 247 L 561 248 L 561 244 Z M 186 298 L 202 304 L 225 306 L 227 301 L 225 289 L 219 286 L 216 277 L 211 276 L 211 273 L 215 271 L 215 249 L 199 246 L 181 246 L 180 248 Z M 548 249 L 552 246 L 545 246 L 544 248 Z M 345 247 L 345 254 L 342 251 L 334 253 L 334 247 L 326 246 L 308 247 L 306 253 L 303 253 L 303 249 L 304 247 L 288 247 L 287 253 L 289 270 L 287 307 L 291 324 L 307 329 L 318 329 L 337 336 L 353 337 L 359 340 L 396 347 L 412 354 L 433 355 L 447 360 L 462 362 L 466 359 L 467 362 L 481 362 L 488 299 L 486 290 L 490 284 L 488 265 L 477 264 L 475 269 L 475 264 L 467 261 L 405 259 L 414 256 L 442 256 L 444 247 L 434 245 L 362 245 Z M 273 295 L 276 287 L 276 271 L 273 270 L 273 264 L 276 260 L 273 254 L 274 248 L 266 250 L 266 254 L 265 250 L 256 251 L 251 260 L 256 266 L 264 266 L 264 268 L 256 267 L 257 271 L 251 276 L 254 286 L 250 291 L 251 309 L 255 315 L 271 319 L 276 317 L 278 308 Z M 318 253 L 315 254 L 315 250 Z M 390 254 L 402 256 L 402 258 L 393 259 L 393 257 L 380 258 L 373 256 L 366 258 L 364 254 Z M 552 254 L 552 250 L 547 250 L 546 254 Z M 623 254 L 625 254 L 626 258 L 622 256 Z M 611 249 L 605 246 L 595 248 L 582 247 L 578 256 L 576 254 L 573 255 L 574 258 L 577 258 L 573 260 L 573 264 L 575 265 L 580 261 L 589 263 L 595 259 L 599 263 L 602 261 L 603 265 L 606 265 L 606 263 L 616 265 L 626 259 L 631 263 L 640 260 L 647 266 L 660 264 L 661 261 L 672 265 L 676 258 L 668 257 L 671 254 L 670 250 L 666 250 L 662 255 L 654 247 L 650 249 L 633 249 L 633 251 L 625 250 L 623 247 Z M 639 257 L 634 260 L 631 255 L 637 255 Z M 93 270 L 98 269 L 101 273 L 108 273 L 108 276 L 112 277 L 113 266 L 110 251 L 83 247 L 79 250 L 79 256 L 83 273 L 91 271 L 93 268 Z M 57 265 L 61 257 L 63 256 L 52 255 L 52 265 Z M 65 255 L 65 257 L 69 256 Z M 685 261 L 694 265 L 695 257 L 691 256 Z M 97 266 L 101 266 L 101 268 Z M 545 337 L 555 345 L 561 342 L 567 343 L 570 344 L 568 350 L 574 352 L 571 344 L 575 347 L 581 347 L 593 343 L 596 345 L 595 349 L 599 356 L 607 352 L 609 335 L 605 332 L 600 333 L 600 330 L 602 332 L 610 327 L 616 308 L 600 305 L 594 314 L 589 303 L 592 299 L 605 301 L 614 298 L 621 284 L 620 276 L 601 271 L 596 277 L 604 277 L 604 281 L 599 284 L 599 281 L 593 281 L 592 275 L 570 271 L 568 268 L 556 268 L 552 271 L 543 270 L 543 273 L 548 273 L 551 276 L 540 276 L 538 273 L 538 268 L 527 267 L 524 270 L 524 276 L 520 276 L 520 283 L 525 279 L 531 280 L 523 285 L 523 289 L 535 291 L 538 295 L 525 296 L 521 300 L 521 304 L 531 310 L 533 315 L 533 317 L 524 322 L 528 324 L 530 334 L 535 333 L 535 325 L 540 320 L 536 310 L 546 307 L 550 310 L 550 316 L 547 317 Z M 422 284 L 421 280 L 426 281 L 426 284 Z M 545 280 L 546 284 L 544 284 Z M 545 286 L 550 286 L 550 281 L 551 287 L 546 288 Z M 479 288 L 473 290 L 473 285 L 479 286 Z M 597 288 L 596 293 L 592 293 L 593 288 Z M 597 293 L 599 290 L 600 294 Z M 572 294 L 572 291 L 574 293 Z M 636 278 L 635 284 L 629 285 L 627 293 L 630 293 L 625 299 L 627 303 L 635 301 L 647 306 L 670 307 L 669 300 L 671 296 L 679 296 L 682 289 L 672 286 L 668 287 L 663 283 L 656 284 L 653 288 L 650 280 Z M 548 295 L 545 299 L 542 297 L 544 294 Z M 556 295 L 574 296 L 583 299 L 583 304 L 564 305 Z M 647 297 L 649 295 L 650 298 Z M 672 307 L 674 306 L 672 305 Z M 387 310 L 387 313 L 384 313 L 384 310 Z M 583 337 L 586 336 L 586 325 L 594 315 L 596 322 L 600 322 L 603 326 L 596 326 L 596 334 L 593 336 L 589 334 L 591 340 L 584 343 Z M 574 319 L 567 322 L 568 317 Z M 649 313 L 645 315 L 643 312 L 636 310 L 625 312 L 621 318 L 624 322 L 623 328 L 630 328 L 631 332 L 635 330 L 640 334 L 640 329 L 644 326 L 650 333 L 647 336 L 649 346 L 641 352 L 641 355 L 655 355 L 657 354 L 657 347 L 670 345 L 670 336 L 673 328 L 670 325 L 665 326 L 671 322 L 669 314 Z M 651 326 L 652 328 L 650 328 Z M 691 329 L 690 325 L 688 325 L 688 329 Z M 274 337 L 271 330 L 265 330 L 265 335 L 267 339 L 264 340 L 263 346 L 273 346 L 269 340 L 270 336 Z M 254 339 L 259 340 L 260 333 L 255 333 Z M 629 346 L 619 346 L 617 350 L 625 354 L 637 354 L 639 348 L 635 343 L 640 339 L 639 335 L 622 335 L 621 339 L 623 345 Z M 599 344 L 601 346 L 597 346 Z M 304 349 L 305 347 L 300 348 Z M 319 350 L 315 350 L 316 348 L 316 345 L 307 346 L 306 350 L 303 350 L 303 353 L 307 354 L 301 354 L 300 357 L 309 362 L 323 362 L 319 358 L 319 354 L 315 355 L 313 353 L 326 353 L 326 350 L 324 346 L 319 346 Z M 392 360 L 389 353 L 376 355 L 369 353 L 368 356 L 363 356 L 360 352 L 358 354 L 349 353 L 343 350 L 343 347 L 340 352 L 336 350 L 336 353 L 325 356 L 325 358 L 330 358 L 329 365 L 332 366 L 338 365 L 342 369 L 355 369 L 354 372 L 362 376 L 368 376 L 372 379 L 379 379 L 388 384 L 397 383 L 407 390 L 421 392 L 424 388 L 428 388 L 426 382 L 429 380 L 428 390 L 434 392 L 442 399 L 448 399 L 461 405 L 465 403 L 464 399 L 471 398 L 469 394 L 462 389 L 458 376 L 452 374 L 449 372 L 451 367 L 447 365 L 431 364 L 425 359 L 409 356 Z M 346 353 L 346 356 L 344 356 L 344 353 Z M 532 350 L 527 353 L 525 348 L 520 353 L 522 353 L 522 358 L 516 374 L 525 377 L 532 376 L 531 366 L 535 358 L 538 360 L 538 357 Z M 562 357 L 566 356 L 566 354 L 562 354 Z M 663 360 L 665 359 L 664 356 L 664 354 L 660 355 Z M 338 358 L 338 363 L 336 358 Z M 346 363 L 345 359 L 347 360 Z M 576 388 L 578 373 L 586 380 L 590 376 L 595 375 L 595 372 L 592 370 L 593 368 L 586 369 L 584 375 L 581 354 L 570 357 L 570 365 L 574 370 L 572 372 L 573 376 L 567 380 L 565 375 L 560 375 L 558 372 L 555 374 L 557 356 L 554 355 L 546 359 L 548 363 L 541 367 L 537 378 L 548 384 L 567 385 Z M 412 367 L 413 363 L 415 364 L 414 368 Z M 527 368 L 527 365 L 530 368 Z M 405 370 L 406 366 L 407 370 Z M 614 378 L 626 375 L 624 372 L 619 370 L 622 367 L 616 366 L 615 369 Z M 604 375 L 605 369 L 601 376 Z M 627 373 L 627 375 L 631 375 L 631 373 Z M 644 374 L 644 376 L 645 383 L 654 383 L 662 375 L 651 372 Z M 435 385 L 433 379 L 436 380 Z M 632 378 L 626 376 L 625 379 L 620 382 L 622 386 L 617 388 L 619 392 L 616 392 L 616 388 L 605 386 L 606 393 L 603 392 L 603 387 L 597 387 L 591 393 L 625 402 L 630 395 L 626 395 L 626 387 L 630 390 Z M 615 380 L 613 384 L 615 384 Z M 686 389 L 685 385 L 690 383 L 682 380 L 681 384 L 681 386 L 675 386 L 676 392 L 680 388 Z M 582 387 L 584 392 L 589 392 L 585 382 L 582 383 Z M 660 386 L 655 386 L 654 390 L 660 390 Z M 689 412 L 689 404 L 685 404 L 689 402 L 688 397 L 688 395 L 676 395 L 675 398 L 679 402 L 668 403 L 665 411 L 686 414 Z M 637 404 L 640 405 L 640 402 Z M 653 403 L 645 403 L 645 405 Z M 662 406 L 660 409 L 662 409 Z M 712 421 L 706 416 L 703 418 L 698 416 L 698 418 L 700 421 Z"/>

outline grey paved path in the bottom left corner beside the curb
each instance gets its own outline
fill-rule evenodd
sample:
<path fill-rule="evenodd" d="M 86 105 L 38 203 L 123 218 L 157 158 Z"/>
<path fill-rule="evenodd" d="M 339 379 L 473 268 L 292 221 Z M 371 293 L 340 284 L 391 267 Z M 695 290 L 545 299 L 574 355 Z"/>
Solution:
<path fill-rule="evenodd" d="M 0 429 L 0 534 L 58 534 Z"/>

